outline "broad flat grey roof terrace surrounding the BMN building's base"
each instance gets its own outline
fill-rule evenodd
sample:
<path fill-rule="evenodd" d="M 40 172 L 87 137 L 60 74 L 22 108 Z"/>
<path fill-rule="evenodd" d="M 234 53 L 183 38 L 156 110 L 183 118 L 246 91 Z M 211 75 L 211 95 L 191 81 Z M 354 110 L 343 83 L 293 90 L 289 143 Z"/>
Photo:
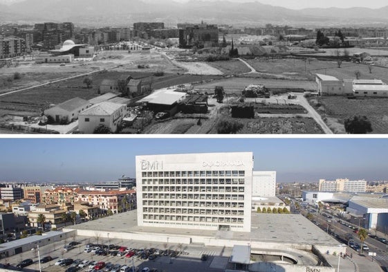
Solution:
<path fill-rule="evenodd" d="M 137 210 L 88 221 L 69 229 L 100 230 L 109 233 L 153 233 L 154 235 L 179 235 L 182 237 L 216 237 L 246 242 L 272 242 L 279 244 L 307 244 L 336 246 L 338 241 L 299 214 L 266 214 L 252 212 L 251 231 L 225 232 L 194 228 L 165 228 L 138 226 Z M 292 233 L 293 235 L 290 235 Z"/>

